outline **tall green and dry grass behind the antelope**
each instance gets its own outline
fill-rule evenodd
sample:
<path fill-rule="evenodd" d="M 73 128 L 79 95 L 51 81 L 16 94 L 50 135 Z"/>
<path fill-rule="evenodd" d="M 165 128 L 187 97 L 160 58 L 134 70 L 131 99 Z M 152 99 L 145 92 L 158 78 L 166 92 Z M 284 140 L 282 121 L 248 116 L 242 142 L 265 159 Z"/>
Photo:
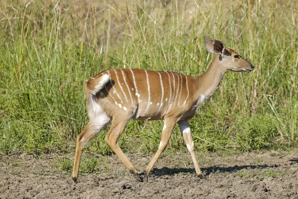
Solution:
<path fill-rule="evenodd" d="M 201 75 L 213 58 L 203 36 L 222 40 L 256 69 L 225 75 L 190 123 L 195 146 L 212 151 L 293 146 L 298 140 L 297 19 L 295 0 L 4 0 L 0 153 L 73 151 L 87 123 L 85 79 L 107 68 Z M 154 152 L 161 129 L 161 121 L 131 121 L 122 148 Z M 186 150 L 177 129 L 168 149 Z M 111 153 L 104 134 L 87 150 Z"/>

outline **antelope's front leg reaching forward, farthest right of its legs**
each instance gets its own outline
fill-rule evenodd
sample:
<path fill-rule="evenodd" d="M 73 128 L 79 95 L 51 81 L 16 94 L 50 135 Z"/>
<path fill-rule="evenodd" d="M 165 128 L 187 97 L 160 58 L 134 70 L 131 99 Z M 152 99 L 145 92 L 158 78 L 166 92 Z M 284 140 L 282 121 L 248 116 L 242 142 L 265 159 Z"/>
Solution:
<path fill-rule="evenodd" d="M 206 177 L 203 175 L 203 173 L 199 167 L 198 161 L 197 161 L 197 157 L 195 154 L 195 148 L 194 148 L 194 141 L 192 138 L 192 134 L 190 132 L 188 121 L 180 121 L 180 122 L 178 122 L 178 125 L 180 128 L 180 132 L 183 136 L 183 139 L 186 143 L 187 149 L 191 155 L 191 159 L 195 165 L 195 170 L 196 170 L 198 177 L 201 179 L 206 179 Z"/>

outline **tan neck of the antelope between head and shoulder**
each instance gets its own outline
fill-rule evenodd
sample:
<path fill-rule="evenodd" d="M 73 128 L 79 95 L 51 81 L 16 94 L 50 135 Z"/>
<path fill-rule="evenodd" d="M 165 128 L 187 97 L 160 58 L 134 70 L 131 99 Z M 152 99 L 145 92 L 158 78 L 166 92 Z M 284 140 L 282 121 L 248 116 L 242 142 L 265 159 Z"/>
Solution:
<path fill-rule="evenodd" d="M 211 97 L 219 88 L 226 71 L 220 56 L 215 55 L 207 71 L 196 79 L 198 97 L 201 95 L 207 99 Z"/>

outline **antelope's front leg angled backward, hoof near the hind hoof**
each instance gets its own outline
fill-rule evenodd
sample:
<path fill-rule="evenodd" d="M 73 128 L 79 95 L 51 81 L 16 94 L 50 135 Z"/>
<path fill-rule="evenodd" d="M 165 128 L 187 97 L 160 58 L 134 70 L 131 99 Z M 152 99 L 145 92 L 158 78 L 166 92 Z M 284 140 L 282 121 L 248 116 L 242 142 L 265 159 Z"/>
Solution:
<path fill-rule="evenodd" d="M 148 175 L 149 175 L 150 171 L 152 170 L 152 168 L 153 168 L 155 162 L 157 161 L 158 157 L 160 156 L 162 151 L 167 146 L 167 144 L 168 144 L 168 142 L 171 138 L 171 135 L 173 133 L 175 125 L 176 125 L 175 122 L 168 121 L 166 119 L 164 120 L 164 126 L 163 126 L 163 130 L 162 130 L 162 133 L 161 133 L 159 147 L 158 147 L 158 150 L 156 151 L 154 157 L 150 161 L 149 165 L 146 167 L 146 170 L 144 172 L 144 182 L 148 182 Z"/>

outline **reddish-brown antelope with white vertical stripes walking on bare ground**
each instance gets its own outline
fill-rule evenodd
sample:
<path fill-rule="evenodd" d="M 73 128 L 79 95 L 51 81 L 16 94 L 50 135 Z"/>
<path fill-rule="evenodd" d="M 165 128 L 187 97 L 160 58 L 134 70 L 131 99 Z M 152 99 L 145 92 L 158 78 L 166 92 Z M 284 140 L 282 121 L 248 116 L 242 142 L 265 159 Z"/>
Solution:
<path fill-rule="evenodd" d="M 108 69 L 88 79 L 84 85 L 89 122 L 77 136 L 73 180 L 78 182 L 78 168 L 86 143 L 111 122 L 105 141 L 140 182 L 148 176 L 158 157 L 167 146 L 174 127 L 180 132 L 190 152 L 196 174 L 203 175 L 194 150 L 189 120 L 197 108 L 219 88 L 227 70 L 250 72 L 254 69 L 248 61 L 223 42 L 204 37 L 209 53 L 215 56 L 207 71 L 199 77 L 173 71 L 144 69 Z M 131 120 L 164 120 L 160 144 L 141 179 L 134 165 L 121 150 L 118 138 Z"/>

